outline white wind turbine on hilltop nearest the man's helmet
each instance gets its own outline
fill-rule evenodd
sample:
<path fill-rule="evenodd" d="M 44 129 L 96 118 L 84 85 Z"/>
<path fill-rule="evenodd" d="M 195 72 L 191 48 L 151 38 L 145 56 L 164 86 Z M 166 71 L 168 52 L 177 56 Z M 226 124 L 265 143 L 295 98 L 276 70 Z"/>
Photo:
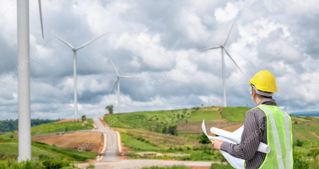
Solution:
<path fill-rule="evenodd" d="M 220 45 L 220 46 L 215 46 L 215 47 L 211 47 L 211 48 L 206 48 L 206 49 L 201 49 L 198 51 L 204 51 L 204 50 L 211 50 L 211 49 L 217 49 L 217 48 L 221 48 L 221 67 L 222 67 L 222 74 L 223 74 L 223 92 L 224 92 L 224 107 L 227 106 L 226 104 L 226 83 L 225 83 L 225 61 L 224 61 L 224 50 L 226 52 L 226 54 L 229 56 L 229 58 L 235 63 L 235 65 L 237 66 L 237 68 L 241 71 L 241 69 L 239 68 L 239 66 L 237 65 L 237 63 L 234 61 L 234 59 L 232 58 L 232 56 L 229 55 L 229 53 L 227 52 L 227 50 L 225 49 L 225 45 L 226 42 L 229 38 L 230 33 L 232 32 L 232 29 L 234 27 L 236 19 L 234 20 L 234 23 L 232 25 L 232 27 L 230 28 L 230 31 L 228 33 L 228 36 L 226 38 L 226 41 L 224 43 L 224 45 Z M 242 71 L 241 71 L 242 73 Z"/>

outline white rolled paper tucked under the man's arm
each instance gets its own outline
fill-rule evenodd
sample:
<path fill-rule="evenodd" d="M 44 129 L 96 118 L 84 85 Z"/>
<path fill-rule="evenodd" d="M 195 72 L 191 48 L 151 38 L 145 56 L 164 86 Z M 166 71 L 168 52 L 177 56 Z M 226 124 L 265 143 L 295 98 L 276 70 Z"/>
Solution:
<path fill-rule="evenodd" d="M 235 143 L 240 143 L 241 141 L 241 134 L 242 134 L 242 131 L 243 131 L 244 127 L 241 126 L 241 128 L 239 128 L 238 130 L 236 130 L 236 132 L 229 132 L 229 131 L 226 131 L 226 130 L 222 130 L 222 129 L 218 129 L 218 128 L 215 128 L 215 127 L 212 127 L 210 129 L 211 133 L 214 133 L 218 136 L 221 136 L 221 137 L 224 137 L 228 140 L 231 140 Z M 265 144 L 265 143 L 259 143 L 259 146 L 257 148 L 257 151 L 260 151 L 260 152 L 263 152 L 263 153 L 266 153 L 268 154 L 270 152 L 270 146 Z"/>

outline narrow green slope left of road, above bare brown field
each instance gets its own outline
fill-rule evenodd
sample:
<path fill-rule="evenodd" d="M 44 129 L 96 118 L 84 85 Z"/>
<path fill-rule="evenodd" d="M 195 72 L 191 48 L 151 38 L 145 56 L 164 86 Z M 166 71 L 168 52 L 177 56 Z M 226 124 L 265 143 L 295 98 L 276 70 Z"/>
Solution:
<path fill-rule="evenodd" d="M 88 130 L 93 128 L 93 120 L 87 119 L 85 122 L 63 122 L 63 123 L 46 123 L 41 124 L 38 126 L 34 126 L 31 128 L 32 136 L 48 134 L 48 133 L 56 133 L 56 132 L 63 132 L 63 131 L 75 131 L 75 130 Z"/>

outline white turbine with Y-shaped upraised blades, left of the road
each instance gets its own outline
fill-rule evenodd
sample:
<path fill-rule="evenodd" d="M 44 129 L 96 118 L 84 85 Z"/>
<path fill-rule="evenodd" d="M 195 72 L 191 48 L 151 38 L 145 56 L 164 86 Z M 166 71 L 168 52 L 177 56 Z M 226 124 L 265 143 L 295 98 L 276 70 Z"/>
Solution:
<path fill-rule="evenodd" d="M 51 32 L 52 33 L 52 32 Z M 74 48 L 70 43 L 68 43 L 67 41 L 63 40 L 62 38 L 56 36 L 54 33 L 52 33 L 56 38 L 58 38 L 59 40 L 61 40 L 63 43 L 65 43 L 66 45 L 68 45 L 72 50 L 73 50 L 73 86 L 74 86 L 74 118 L 75 120 L 78 119 L 78 96 L 77 96 L 77 50 L 80 48 L 85 47 L 86 45 L 92 43 L 94 40 L 99 39 L 100 37 L 106 35 L 107 33 L 102 34 L 101 36 L 90 40 L 88 42 L 86 42 L 85 44 L 79 46 L 78 48 Z"/>

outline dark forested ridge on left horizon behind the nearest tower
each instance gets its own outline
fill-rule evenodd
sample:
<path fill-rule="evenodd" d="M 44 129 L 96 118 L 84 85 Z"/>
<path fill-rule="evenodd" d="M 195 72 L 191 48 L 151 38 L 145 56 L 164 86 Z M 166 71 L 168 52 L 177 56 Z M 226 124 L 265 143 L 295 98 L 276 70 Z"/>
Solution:
<path fill-rule="evenodd" d="M 31 119 L 31 126 L 37 126 L 43 123 L 49 123 L 58 120 Z M 0 132 L 8 132 L 18 129 L 18 119 L 16 120 L 0 120 Z"/>

